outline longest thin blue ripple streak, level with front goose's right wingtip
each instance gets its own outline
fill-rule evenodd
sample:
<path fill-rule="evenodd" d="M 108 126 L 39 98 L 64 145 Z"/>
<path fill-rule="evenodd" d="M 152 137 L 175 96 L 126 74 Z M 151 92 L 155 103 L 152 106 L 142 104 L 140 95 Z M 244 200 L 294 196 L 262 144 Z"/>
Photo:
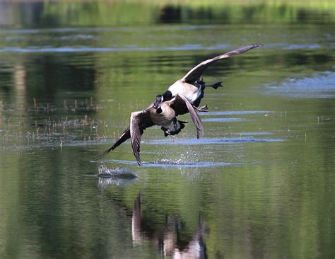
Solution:
<path fill-rule="evenodd" d="M 156 139 L 144 142 L 145 144 L 166 144 L 166 145 L 205 145 L 205 144 L 240 144 L 259 142 L 283 142 L 283 139 L 264 139 L 253 137 L 229 137 L 229 138 L 202 138 L 202 139 Z"/>

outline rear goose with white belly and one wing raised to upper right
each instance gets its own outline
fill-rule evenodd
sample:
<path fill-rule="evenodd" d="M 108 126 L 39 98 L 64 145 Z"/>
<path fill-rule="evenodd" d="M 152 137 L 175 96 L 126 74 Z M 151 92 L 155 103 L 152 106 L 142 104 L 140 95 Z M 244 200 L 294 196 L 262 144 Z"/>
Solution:
<path fill-rule="evenodd" d="M 259 44 L 238 47 L 236 50 L 232 50 L 225 54 L 221 54 L 217 57 L 213 57 L 212 59 L 207 59 L 204 62 L 201 62 L 196 67 L 189 70 L 182 79 L 175 81 L 174 84 L 167 88 L 167 91 L 165 91 L 165 93 L 156 96 L 153 107 L 157 108 L 159 103 L 162 103 L 165 100 L 171 100 L 171 98 L 179 94 L 180 96 L 186 97 L 187 100 L 189 100 L 189 103 L 191 103 L 196 110 L 208 111 L 206 105 L 199 108 L 200 100 L 204 97 L 204 88 L 212 87 L 217 89 L 219 86 L 222 85 L 221 82 L 206 85 L 204 80 L 200 77 L 201 74 L 207 67 L 209 67 L 210 64 L 213 64 L 220 59 L 225 59 L 226 57 L 231 57 L 237 54 L 241 54 L 243 52 L 247 52 L 248 50 L 252 50 L 255 47 L 259 47 Z"/>

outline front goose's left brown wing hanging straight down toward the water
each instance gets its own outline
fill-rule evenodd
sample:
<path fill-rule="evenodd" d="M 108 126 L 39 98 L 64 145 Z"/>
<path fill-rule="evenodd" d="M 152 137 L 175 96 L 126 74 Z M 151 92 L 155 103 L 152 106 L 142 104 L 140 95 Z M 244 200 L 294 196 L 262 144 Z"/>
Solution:
<path fill-rule="evenodd" d="M 137 163 L 141 166 L 140 143 L 143 130 L 153 126 L 148 109 L 130 115 L 130 141 Z"/>

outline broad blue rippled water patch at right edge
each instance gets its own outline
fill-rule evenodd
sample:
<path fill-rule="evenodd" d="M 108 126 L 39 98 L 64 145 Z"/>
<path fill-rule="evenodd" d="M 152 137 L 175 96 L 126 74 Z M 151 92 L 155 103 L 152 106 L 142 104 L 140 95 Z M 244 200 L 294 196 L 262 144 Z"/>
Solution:
<path fill-rule="evenodd" d="M 335 98 L 335 72 L 326 71 L 303 79 L 289 79 L 280 85 L 265 85 L 266 94 L 292 98 Z"/>

